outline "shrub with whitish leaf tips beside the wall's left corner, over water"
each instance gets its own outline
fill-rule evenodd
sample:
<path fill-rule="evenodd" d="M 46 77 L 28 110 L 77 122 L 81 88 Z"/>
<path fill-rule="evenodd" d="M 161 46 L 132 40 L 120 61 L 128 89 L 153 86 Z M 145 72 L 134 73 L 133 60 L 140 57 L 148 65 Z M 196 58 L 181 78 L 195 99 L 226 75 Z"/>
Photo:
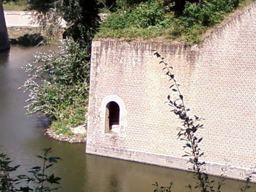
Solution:
<path fill-rule="evenodd" d="M 67 39 L 55 52 L 34 55 L 34 63 L 23 67 L 29 73 L 22 86 L 24 92 L 30 92 L 26 100 L 29 115 L 69 120 L 73 126 L 84 123 L 90 75 L 87 53 Z"/>

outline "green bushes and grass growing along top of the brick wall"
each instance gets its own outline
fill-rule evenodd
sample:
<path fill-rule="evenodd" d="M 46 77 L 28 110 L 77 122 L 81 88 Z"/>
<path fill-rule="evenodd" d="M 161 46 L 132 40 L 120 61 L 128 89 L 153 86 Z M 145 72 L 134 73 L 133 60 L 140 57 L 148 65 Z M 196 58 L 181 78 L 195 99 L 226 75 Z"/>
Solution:
<path fill-rule="evenodd" d="M 161 37 L 192 45 L 202 42 L 204 32 L 220 24 L 236 8 L 251 2 L 253 1 L 116 1 L 116 4 L 112 4 L 115 9 L 110 7 L 112 12 L 102 22 L 96 38 L 134 40 Z"/>

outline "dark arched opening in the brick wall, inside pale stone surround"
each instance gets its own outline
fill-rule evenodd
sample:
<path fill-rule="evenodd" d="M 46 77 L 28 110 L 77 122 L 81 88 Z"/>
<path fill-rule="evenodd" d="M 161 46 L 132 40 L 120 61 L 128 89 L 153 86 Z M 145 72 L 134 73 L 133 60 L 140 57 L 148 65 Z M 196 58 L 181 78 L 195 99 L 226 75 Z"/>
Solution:
<path fill-rule="evenodd" d="M 120 122 L 120 107 L 114 102 L 108 102 L 106 105 L 106 116 L 105 116 L 105 131 L 112 130 L 114 125 L 119 125 Z"/>

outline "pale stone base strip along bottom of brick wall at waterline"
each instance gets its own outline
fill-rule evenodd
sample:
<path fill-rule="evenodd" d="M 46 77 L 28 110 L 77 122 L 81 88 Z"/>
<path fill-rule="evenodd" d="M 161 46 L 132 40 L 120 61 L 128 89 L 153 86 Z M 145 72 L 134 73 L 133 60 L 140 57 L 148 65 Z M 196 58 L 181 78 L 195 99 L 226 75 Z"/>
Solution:
<path fill-rule="evenodd" d="M 192 167 L 191 164 L 188 163 L 188 160 L 182 157 L 166 156 L 164 154 L 152 154 L 145 151 L 132 150 L 128 148 L 115 148 L 108 146 L 102 147 L 86 144 L 86 153 L 186 171 L 188 170 L 188 168 Z M 206 170 L 207 173 L 210 175 L 220 176 L 221 174 L 223 174 L 222 168 L 224 167 L 224 164 L 206 162 Z M 228 165 L 225 175 L 228 178 L 232 178 L 235 180 L 244 180 L 244 178 L 248 177 L 251 172 L 252 169 L 247 167 Z M 256 182 L 255 176 L 252 177 L 252 182 Z"/>

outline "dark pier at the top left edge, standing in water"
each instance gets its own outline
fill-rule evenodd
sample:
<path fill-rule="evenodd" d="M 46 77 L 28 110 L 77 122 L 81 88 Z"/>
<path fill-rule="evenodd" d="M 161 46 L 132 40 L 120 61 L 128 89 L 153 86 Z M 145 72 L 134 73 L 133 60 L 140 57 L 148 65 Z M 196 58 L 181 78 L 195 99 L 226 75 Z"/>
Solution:
<path fill-rule="evenodd" d="M 0 0 L 0 52 L 10 49 L 10 43 L 4 19 L 3 2 Z"/>

